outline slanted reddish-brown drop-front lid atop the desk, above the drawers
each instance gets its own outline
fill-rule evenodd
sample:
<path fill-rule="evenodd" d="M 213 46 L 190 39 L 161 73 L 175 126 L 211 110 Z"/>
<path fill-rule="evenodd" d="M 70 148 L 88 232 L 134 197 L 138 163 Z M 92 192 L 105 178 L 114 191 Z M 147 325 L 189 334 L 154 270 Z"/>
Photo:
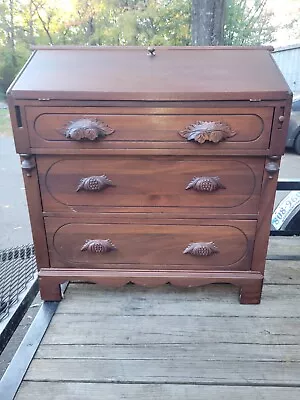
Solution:
<path fill-rule="evenodd" d="M 290 89 L 264 47 L 46 47 L 9 93 L 50 100 L 278 100 Z"/>

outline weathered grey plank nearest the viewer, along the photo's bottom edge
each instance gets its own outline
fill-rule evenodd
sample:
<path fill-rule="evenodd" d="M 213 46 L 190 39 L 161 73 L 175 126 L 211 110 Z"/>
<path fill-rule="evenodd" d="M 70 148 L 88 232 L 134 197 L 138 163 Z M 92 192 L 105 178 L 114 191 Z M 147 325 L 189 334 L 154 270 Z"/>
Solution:
<path fill-rule="evenodd" d="M 299 400 L 299 388 L 24 382 L 16 400 Z"/>

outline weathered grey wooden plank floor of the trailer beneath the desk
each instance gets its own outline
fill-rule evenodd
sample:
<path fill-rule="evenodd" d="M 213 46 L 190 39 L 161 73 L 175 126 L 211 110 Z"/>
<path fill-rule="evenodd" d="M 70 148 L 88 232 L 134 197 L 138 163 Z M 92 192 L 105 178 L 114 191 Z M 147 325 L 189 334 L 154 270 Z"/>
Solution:
<path fill-rule="evenodd" d="M 271 254 L 291 241 L 278 243 Z M 240 305 L 231 285 L 71 284 L 16 395 L 168 398 L 300 399 L 299 261 L 267 262 L 260 305 Z"/>

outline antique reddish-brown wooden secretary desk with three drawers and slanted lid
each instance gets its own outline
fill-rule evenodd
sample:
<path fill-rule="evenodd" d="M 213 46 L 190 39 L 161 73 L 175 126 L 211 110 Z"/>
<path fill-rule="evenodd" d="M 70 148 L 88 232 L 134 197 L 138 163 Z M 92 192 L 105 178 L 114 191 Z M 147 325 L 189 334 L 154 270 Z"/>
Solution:
<path fill-rule="evenodd" d="M 269 48 L 40 48 L 8 97 L 43 299 L 227 282 L 259 303 L 291 105 Z"/>

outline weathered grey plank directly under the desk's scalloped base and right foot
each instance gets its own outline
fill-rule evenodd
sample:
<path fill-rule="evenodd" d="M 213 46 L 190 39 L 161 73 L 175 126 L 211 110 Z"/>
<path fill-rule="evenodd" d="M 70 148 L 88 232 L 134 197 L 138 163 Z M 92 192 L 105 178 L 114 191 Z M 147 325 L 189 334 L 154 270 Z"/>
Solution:
<path fill-rule="evenodd" d="M 298 273 L 300 275 L 300 273 Z M 144 289 L 125 287 L 118 291 L 96 285 L 72 286 L 59 314 L 93 315 L 182 315 L 209 317 L 300 317 L 300 285 L 266 285 L 259 306 L 238 303 L 237 289 L 231 285 L 210 285 L 188 290 L 172 287 Z M 180 306 L 178 305 L 180 304 Z"/>

